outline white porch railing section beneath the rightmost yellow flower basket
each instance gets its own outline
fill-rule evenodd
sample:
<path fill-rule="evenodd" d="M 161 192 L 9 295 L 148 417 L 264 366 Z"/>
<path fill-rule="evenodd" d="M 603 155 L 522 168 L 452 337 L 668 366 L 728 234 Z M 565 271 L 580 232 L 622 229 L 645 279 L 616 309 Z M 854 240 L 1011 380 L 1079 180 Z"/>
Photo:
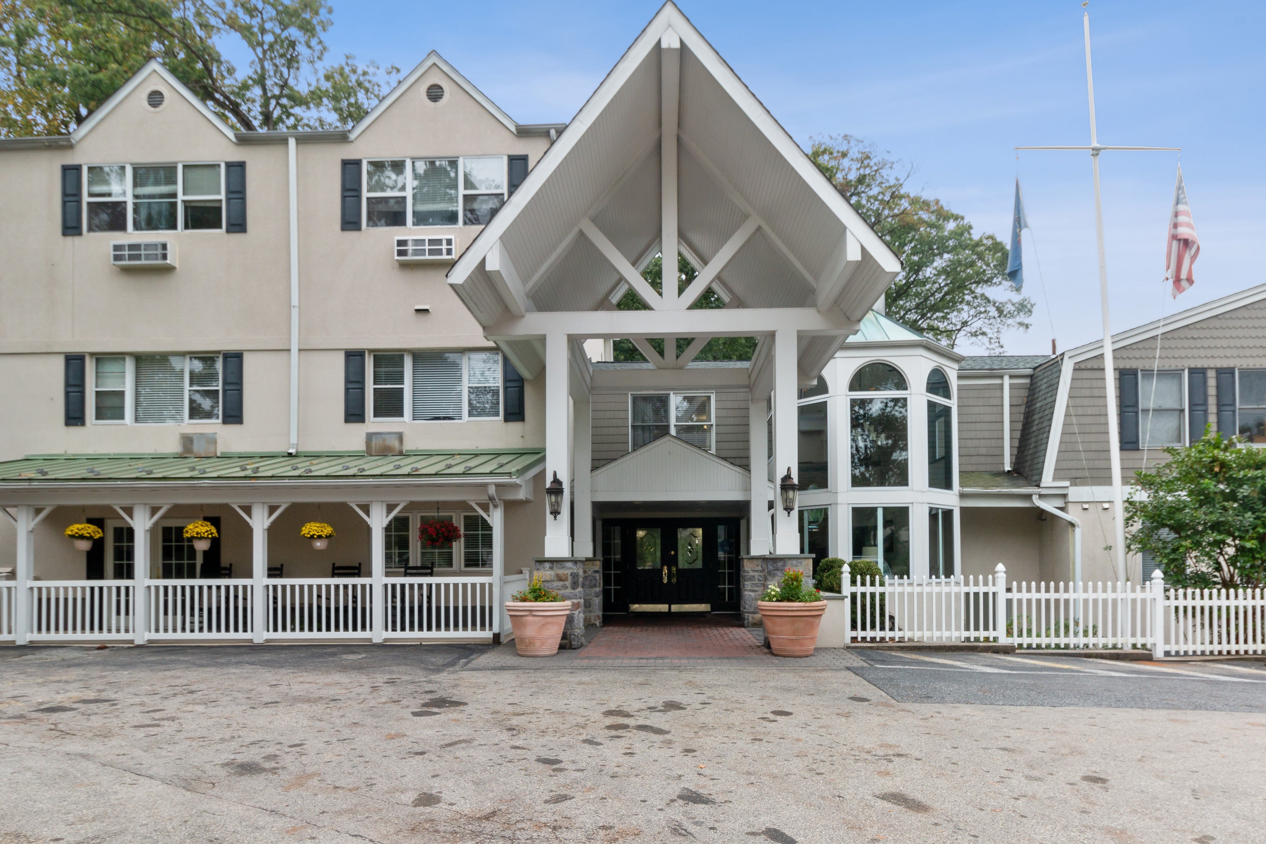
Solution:
<path fill-rule="evenodd" d="M 285 578 L 265 585 L 268 639 L 334 639 L 372 635 L 373 580 Z"/>

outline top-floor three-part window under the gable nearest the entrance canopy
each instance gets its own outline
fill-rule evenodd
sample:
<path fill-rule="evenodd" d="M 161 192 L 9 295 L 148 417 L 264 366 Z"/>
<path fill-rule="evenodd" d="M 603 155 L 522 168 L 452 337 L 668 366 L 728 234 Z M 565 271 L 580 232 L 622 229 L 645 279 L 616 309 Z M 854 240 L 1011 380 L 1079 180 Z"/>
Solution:
<path fill-rule="evenodd" d="M 506 157 L 365 162 L 367 228 L 486 225 L 506 197 Z"/>

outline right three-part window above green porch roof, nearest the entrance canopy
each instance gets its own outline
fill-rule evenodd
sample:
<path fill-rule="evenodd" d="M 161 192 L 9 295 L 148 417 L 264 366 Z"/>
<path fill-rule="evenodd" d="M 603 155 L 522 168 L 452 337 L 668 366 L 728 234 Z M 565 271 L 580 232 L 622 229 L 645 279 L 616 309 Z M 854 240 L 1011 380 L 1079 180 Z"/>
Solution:
<path fill-rule="evenodd" d="M 375 352 L 373 421 L 501 418 L 500 352 Z"/>

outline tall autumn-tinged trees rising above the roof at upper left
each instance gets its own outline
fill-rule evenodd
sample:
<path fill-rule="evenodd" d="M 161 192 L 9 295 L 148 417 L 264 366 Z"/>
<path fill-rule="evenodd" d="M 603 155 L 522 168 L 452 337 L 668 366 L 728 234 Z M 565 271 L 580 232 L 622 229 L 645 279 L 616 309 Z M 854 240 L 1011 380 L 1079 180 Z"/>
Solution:
<path fill-rule="evenodd" d="M 323 0 L 19 0 L 0 4 L 0 134 L 65 134 L 158 58 L 243 130 L 361 119 L 399 68 L 324 65 Z M 239 73 L 218 44 L 251 56 Z"/>

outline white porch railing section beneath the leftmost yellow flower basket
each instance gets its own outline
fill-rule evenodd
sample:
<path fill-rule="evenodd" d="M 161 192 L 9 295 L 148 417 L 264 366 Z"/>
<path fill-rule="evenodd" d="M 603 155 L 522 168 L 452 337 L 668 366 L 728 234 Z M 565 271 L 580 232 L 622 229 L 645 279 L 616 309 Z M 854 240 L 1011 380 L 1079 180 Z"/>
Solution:
<path fill-rule="evenodd" d="M 37 581 L 30 585 L 34 642 L 132 639 L 133 585 L 110 581 Z"/>

